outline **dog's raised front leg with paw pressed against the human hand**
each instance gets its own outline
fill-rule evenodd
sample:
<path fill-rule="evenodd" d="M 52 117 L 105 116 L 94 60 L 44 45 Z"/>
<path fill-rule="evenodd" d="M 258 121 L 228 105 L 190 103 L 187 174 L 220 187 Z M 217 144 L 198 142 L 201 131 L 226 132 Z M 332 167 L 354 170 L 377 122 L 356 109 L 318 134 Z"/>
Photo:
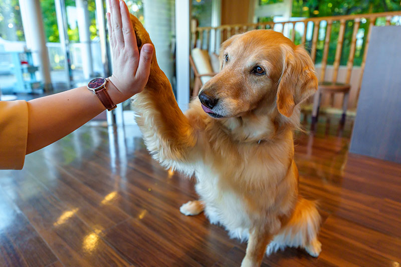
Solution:
<path fill-rule="evenodd" d="M 148 33 L 134 16 L 131 22 L 138 47 L 151 43 Z M 193 123 L 179 109 L 170 82 L 157 65 L 155 52 L 146 87 L 132 100 L 136 122 L 153 158 L 165 167 L 187 165 L 196 144 L 196 133 Z"/>

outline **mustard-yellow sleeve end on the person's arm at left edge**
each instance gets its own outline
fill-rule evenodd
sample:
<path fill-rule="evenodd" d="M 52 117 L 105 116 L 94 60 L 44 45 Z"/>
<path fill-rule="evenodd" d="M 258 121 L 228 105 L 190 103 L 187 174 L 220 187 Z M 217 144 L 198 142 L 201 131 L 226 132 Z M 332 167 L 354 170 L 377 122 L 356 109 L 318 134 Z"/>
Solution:
<path fill-rule="evenodd" d="M 22 169 L 27 138 L 27 102 L 0 101 L 0 169 Z"/>

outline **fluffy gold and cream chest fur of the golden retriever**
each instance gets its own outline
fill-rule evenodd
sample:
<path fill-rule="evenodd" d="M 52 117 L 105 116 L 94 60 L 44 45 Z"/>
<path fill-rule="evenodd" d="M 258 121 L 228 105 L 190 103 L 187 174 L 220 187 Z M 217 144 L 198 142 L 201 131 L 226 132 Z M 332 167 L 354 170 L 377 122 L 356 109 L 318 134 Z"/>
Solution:
<path fill-rule="evenodd" d="M 275 212 L 276 199 L 280 198 L 277 187 L 292 162 L 292 135 L 291 142 L 285 144 L 236 144 L 205 134 L 209 146 L 205 148 L 207 156 L 194 170 L 195 189 L 205 202 L 205 214 L 211 223 L 221 223 L 232 237 L 247 239 L 254 221 Z M 283 152 L 289 156 L 275 156 Z"/>

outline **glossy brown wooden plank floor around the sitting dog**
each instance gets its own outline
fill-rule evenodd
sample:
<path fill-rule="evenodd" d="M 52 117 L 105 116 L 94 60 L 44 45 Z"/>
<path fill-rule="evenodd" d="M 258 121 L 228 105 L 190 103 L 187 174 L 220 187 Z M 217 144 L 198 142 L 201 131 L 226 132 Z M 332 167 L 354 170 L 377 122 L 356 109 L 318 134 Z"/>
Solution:
<path fill-rule="evenodd" d="M 401 165 L 347 153 L 352 121 L 320 119 L 295 150 L 300 191 L 320 201 L 322 252 L 287 248 L 264 266 L 399 266 Z M 245 255 L 203 214 L 179 212 L 193 181 L 152 161 L 135 126 L 84 126 L 0 171 L 0 186 L 0 266 L 239 266 Z"/>

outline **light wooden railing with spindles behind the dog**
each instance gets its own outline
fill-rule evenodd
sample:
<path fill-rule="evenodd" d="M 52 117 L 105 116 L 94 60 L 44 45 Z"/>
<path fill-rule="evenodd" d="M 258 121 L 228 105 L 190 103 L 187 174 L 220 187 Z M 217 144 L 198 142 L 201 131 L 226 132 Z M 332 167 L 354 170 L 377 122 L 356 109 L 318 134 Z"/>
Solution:
<path fill-rule="evenodd" d="M 372 26 L 400 25 L 400 16 L 401 12 L 385 12 L 219 27 L 194 26 L 191 27 L 192 47 L 219 54 L 221 43 L 232 35 L 255 29 L 273 29 L 281 32 L 296 45 L 305 45 L 316 64 L 319 81 L 338 82 L 337 80 L 342 80 L 341 82 L 352 85 L 348 107 L 353 108 L 356 106 L 359 95 Z M 334 38 L 337 38 L 336 42 Z M 333 57 L 329 59 L 329 55 Z M 359 77 L 357 79 L 353 77 L 353 81 L 351 81 L 354 65 L 360 66 L 358 69 Z M 328 66 L 332 66 L 330 73 L 327 71 Z M 341 69 L 341 79 L 338 77 L 340 66 L 346 66 L 345 73 L 344 68 Z M 328 78 L 327 76 L 330 75 L 331 78 Z M 328 101 L 323 99 L 323 102 Z M 334 101 L 333 96 L 331 96 L 329 102 L 340 106 L 341 101 Z"/>

